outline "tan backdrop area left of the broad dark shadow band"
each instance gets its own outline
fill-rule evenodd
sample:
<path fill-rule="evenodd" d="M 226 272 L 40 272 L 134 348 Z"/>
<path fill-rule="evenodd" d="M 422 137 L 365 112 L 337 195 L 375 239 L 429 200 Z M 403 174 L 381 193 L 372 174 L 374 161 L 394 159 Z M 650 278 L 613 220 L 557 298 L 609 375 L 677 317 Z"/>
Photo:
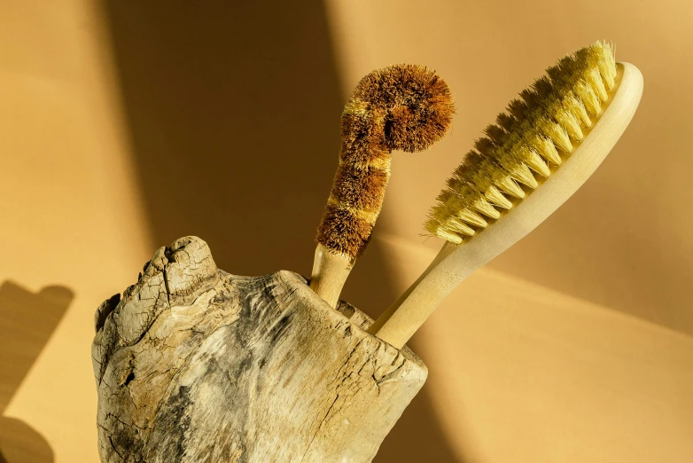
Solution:
<path fill-rule="evenodd" d="M 19 386 L 0 404 L 10 463 L 98 461 L 94 308 L 151 254 L 102 22 L 87 2 L 0 2 L 0 330 L 31 352 L 0 365 Z"/>

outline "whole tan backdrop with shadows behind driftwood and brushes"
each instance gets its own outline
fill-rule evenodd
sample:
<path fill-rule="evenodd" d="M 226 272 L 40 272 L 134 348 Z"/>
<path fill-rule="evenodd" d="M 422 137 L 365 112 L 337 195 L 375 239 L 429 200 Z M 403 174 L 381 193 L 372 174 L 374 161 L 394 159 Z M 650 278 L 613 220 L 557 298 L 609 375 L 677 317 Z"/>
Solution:
<path fill-rule="evenodd" d="M 308 274 L 339 113 L 373 68 L 455 92 L 449 136 L 395 153 L 345 296 L 377 315 L 440 242 L 418 236 L 479 131 L 597 38 L 640 67 L 603 166 L 463 283 L 413 348 L 430 379 L 377 461 L 693 461 L 689 2 L 0 0 L 0 452 L 92 462 L 92 315 L 155 247 Z"/>

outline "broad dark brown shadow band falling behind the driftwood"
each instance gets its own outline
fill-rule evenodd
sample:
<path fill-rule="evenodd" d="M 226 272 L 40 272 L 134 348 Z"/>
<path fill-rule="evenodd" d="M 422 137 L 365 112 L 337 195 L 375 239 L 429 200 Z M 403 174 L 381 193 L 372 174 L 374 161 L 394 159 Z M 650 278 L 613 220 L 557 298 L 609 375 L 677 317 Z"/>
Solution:
<path fill-rule="evenodd" d="M 344 104 L 322 2 L 103 5 L 155 242 L 197 235 L 225 271 L 309 276 Z M 381 255 L 345 288 L 365 311 L 394 299 Z M 424 388 L 376 461 L 448 447 Z"/>

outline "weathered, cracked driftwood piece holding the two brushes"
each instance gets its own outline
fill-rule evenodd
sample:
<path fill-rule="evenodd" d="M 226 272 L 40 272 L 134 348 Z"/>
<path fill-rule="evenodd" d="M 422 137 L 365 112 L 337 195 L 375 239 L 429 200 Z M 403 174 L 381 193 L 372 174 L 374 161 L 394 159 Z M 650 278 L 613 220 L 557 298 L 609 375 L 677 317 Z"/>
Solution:
<path fill-rule="evenodd" d="M 101 460 L 370 461 L 427 374 L 371 322 L 290 271 L 218 270 L 201 239 L 161 247 L 96 313 Z"/>

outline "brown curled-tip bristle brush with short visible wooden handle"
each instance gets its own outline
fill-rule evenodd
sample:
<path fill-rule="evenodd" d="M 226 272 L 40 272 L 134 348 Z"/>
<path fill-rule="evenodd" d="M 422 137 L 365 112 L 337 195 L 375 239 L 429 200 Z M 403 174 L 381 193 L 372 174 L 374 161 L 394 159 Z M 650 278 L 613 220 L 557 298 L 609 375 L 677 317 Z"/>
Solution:
<path fill-rule="evenodd" d="M 317 229 L 310 279 L 332 307 L 370 240 L 391 153 L 427 149 L 445 135 L 454 113 L 448 84 L 423 66 L 385 67 L 356 85 L 341 117 L 339 168 Z"/>

